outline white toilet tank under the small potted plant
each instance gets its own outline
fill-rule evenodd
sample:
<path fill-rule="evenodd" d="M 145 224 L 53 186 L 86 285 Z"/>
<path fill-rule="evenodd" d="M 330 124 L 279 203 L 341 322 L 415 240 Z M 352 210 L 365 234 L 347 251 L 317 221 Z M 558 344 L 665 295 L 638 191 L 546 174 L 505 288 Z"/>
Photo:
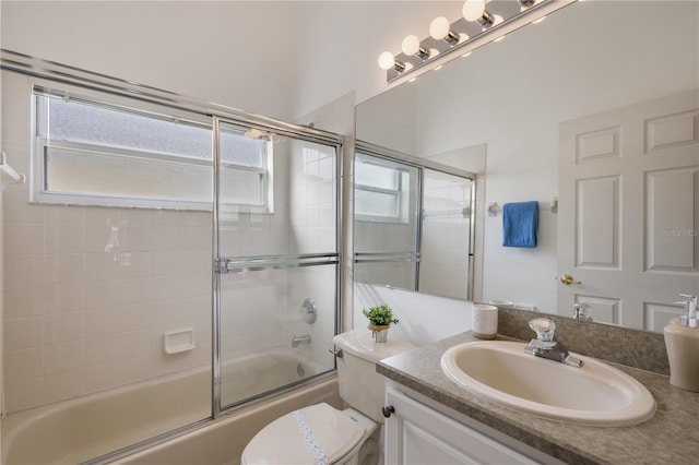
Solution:
<path fill-rule="evenodd" d="M 337 357 L 340 396 L 351 407 L 383 424 L 386 378 L 376 372 L 376 362 L 415 346 L 390 335 L 386 343 L 377 344 L 366 327 L 337 334 L 333 343 L 343 354 Z"/>

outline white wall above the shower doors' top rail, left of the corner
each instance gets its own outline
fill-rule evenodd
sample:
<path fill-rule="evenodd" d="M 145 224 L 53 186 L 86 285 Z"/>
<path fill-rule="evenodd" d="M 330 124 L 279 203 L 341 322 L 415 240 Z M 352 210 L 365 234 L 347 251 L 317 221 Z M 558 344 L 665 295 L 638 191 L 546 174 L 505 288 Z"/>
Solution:
<path fill-rule="evenodd" d="M 2 1 L 2 48 L 289 118 L 293 4 Z"/>

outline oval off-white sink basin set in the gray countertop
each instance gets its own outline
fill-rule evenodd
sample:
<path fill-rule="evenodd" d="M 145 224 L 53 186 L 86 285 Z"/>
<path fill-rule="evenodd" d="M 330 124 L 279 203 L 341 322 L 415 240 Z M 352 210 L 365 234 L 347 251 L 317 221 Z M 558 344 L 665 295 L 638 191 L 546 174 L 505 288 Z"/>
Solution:
<path fill-rule="evenodd" d="M 460 344 L 441 357 L 442 371 L 472 394 L 516 410 L 591 426 L 636 425 L 655 413 L 655 400 L 633 378 L 601 361 L 580 368 L 535 357 L 524 343 Z"/>

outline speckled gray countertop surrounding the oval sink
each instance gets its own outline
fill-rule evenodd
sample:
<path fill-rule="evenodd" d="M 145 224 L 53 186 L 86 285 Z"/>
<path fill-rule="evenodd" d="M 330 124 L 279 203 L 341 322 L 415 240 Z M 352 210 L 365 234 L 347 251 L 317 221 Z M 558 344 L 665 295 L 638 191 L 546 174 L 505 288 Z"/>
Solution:
<path fill-rule="evenodd" d="M 377 371 L 434 401 L 570 464 L 696 464 L 699 460 L 699 393 L 670 384 L 668 378 L 635 368 L 616 368 L 641 382 L 657 412 L 629 427 L 569 425 L 502 407 L 473 395 L 441 371 L 445 350 L 481 341 L 471 332 L 381 360 Z M 584 354 L 583 354 L 584 355 Z"/>

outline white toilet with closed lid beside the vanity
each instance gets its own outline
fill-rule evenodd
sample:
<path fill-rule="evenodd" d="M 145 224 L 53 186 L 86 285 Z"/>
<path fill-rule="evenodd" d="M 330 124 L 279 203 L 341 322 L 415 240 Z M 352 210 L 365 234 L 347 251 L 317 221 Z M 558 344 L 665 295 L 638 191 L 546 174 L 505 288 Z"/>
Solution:
<path fill-rule="evenodd" d="M 352 408 L 328 404 L 300 408 L 262 428 L 242 451 L 241 464 L 376 465 L 381 458 L 384 378 L 376 362 L 415 346 L 390 338 L 376 344 L 369 330 L 333 338 L 340 396 Z"/>

